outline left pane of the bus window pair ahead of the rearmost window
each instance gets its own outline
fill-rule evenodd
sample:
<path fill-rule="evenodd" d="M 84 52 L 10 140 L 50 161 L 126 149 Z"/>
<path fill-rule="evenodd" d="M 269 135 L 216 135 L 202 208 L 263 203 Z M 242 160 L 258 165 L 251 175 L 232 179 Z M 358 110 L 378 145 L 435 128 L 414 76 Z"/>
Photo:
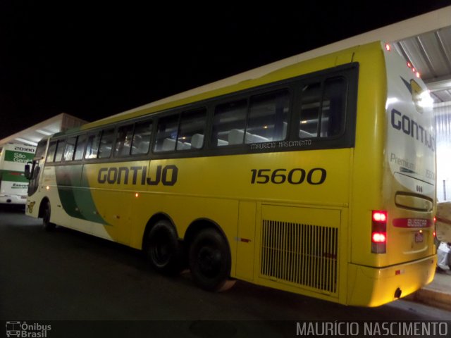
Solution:
<path fill-rule="evenodd" d="M 211 146 L 227 146 L 244 142 L 247 100 L 216 106 L 211 134 Z"/>

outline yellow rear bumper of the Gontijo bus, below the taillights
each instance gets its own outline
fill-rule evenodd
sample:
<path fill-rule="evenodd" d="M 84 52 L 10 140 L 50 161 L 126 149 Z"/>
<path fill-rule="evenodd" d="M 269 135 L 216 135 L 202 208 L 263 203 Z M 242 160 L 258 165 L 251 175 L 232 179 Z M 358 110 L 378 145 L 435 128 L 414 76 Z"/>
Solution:
<path fill-rule="evenodd" d="M 436 265 L 437 255 L 388 268 L 350 264 L 347 305 L 380 306 L 412 294 L 432 282 Z"/>

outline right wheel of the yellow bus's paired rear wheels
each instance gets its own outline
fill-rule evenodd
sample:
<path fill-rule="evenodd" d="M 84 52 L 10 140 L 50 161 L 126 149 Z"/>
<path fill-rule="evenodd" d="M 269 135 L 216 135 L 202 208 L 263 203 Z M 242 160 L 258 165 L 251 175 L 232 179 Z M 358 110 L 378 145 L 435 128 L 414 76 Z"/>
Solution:
<path fill-rule="evenodd" d="M 190 245 L 190 270 L 194 282 L 207 291 L 219 292 L 231 287 L 230 251 L 226 239 L 215 229 L 204 229 Z"/>

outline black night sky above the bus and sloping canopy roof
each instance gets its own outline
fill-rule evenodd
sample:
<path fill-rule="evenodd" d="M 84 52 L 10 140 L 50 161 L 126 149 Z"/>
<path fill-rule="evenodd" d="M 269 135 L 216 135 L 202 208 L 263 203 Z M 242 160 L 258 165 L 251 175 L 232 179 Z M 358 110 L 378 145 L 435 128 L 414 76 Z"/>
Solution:
<path fill-rule="evenodd" d="M 63 112 L 104 118 L 451 5 L 94 2 L 0 1 L 0 139 Z"/>

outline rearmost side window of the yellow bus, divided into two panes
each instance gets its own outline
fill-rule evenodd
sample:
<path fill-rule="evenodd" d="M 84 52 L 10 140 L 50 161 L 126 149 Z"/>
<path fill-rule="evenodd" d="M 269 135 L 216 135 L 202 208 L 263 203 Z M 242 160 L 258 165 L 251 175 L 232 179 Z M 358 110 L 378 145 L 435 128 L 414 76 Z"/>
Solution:
<path fill-rule="evenodd" d="M 339 135 L 345 120 L 346 81 L 335 77 L 302 88 L 299 138 Z"/>

